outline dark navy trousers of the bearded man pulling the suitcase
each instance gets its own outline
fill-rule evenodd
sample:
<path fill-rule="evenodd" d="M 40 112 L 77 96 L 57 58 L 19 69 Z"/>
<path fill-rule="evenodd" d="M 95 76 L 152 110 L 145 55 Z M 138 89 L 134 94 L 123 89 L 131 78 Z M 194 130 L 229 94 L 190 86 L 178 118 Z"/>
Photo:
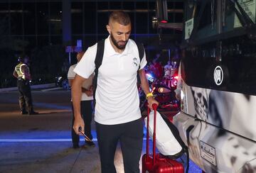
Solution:
<path fill-rule="evenodd" d="M 117 125 L 96 123 L 102 173 L 115 173 L 114 154 L 119 141 L 125 173 L 139 173 L 142 153 L 143 123 L 141 119 Z"/>

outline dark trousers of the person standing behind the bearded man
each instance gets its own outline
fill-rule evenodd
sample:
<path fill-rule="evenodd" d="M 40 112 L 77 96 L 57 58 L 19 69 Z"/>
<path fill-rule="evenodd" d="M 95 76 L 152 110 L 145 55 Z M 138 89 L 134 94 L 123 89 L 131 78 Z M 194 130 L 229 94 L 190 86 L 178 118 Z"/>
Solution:
<path fill-rule="evenodd" d="M 72 126 L 71 126 L 71 136 L 72 136 L 72 142 L 74 144 L 78 144 L 80 140 L 80 136 L 75 133 L 75 130 L 73 129 L 75 117 L 74 117 L 74 108 L 72 105 Z M 92 123 L 92 101 L 81 101 L 80 102 L 80 108 L 81 108 L 81 116 L 83 120 L 85 121 L 85 135 L 87 135 L 88 138 L 92 140 L 92 133 L 91 133 L 91 123 Z"/>

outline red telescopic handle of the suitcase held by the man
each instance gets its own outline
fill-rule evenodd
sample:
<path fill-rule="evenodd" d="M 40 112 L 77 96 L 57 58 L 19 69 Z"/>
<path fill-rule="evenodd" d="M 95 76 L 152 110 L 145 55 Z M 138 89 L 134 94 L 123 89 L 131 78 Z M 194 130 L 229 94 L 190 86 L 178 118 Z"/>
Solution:
<path fill-rule="evenodd" d="M 153 104 L 152 108 L 154 110 L 154 133 L 153 133 L 153 165 L 156 160 L 156 108 L 157 104 Z M 150 108 L 148 108 L 147 121 L 146 121 L 146 160 L 149 157 L 149 113 Z"/>

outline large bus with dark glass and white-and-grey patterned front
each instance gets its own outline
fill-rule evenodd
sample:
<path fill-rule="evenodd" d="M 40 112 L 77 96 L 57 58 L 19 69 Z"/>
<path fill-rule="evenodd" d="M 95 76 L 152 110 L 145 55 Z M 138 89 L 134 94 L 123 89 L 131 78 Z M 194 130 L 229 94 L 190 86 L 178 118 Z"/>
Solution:
<path fill-rule="evenodd" d="M 204 172 L 256 172 L 256 0 L 184 9 L 174 124 Z"/>

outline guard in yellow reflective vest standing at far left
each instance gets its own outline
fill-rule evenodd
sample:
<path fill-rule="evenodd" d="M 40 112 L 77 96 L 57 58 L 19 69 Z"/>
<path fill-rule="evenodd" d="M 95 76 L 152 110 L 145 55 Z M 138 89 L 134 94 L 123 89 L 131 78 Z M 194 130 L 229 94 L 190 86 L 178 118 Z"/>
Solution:
<path fill-rule="evenodd" d="M 17 80 L 18 92 L 19 92 L 19 105 L 21 108 L 21 114 L 35 115 L 38 112 L 33 111 L 31 87 L 29 80 L 31 80 L 31 74 L 28 68 L 28 56 L 19 57 L 18 65 L 14 69 L 14 77 Z M 27 109 L 26 109 L 27 108 Z M 27 111 L 28 110 L 28 111 Z"/>

